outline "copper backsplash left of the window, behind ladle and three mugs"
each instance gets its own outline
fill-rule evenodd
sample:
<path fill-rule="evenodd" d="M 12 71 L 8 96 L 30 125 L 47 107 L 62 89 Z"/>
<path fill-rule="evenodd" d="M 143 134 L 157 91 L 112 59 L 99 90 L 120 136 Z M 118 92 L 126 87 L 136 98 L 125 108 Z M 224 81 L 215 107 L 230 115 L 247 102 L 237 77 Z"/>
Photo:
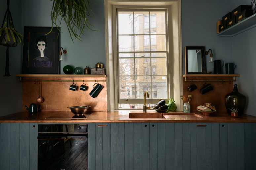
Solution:
<path fill-rule="evenodd" d="M 35 79 L 34 81 L 22 82 L 22 104 L 29 105 L 36 103 L 38 98 L 38 79 L 43 80 L 103 80 L 103 77 L 33 77 L 26 79 Z M 92 98 L 89 93 L 93 89 L 92 82 L 85 82 L 87 87 L 86 91 L 79 90 L 83 81 L 75 81 L 77 86 L 76 91 L 69 90 L 72 81 L 40 81 L 40 97 L 44 98 L 44 102 L 40 103 L 41 111 L 70 111 L 68 106 L 90 106 L 88 111 L 107 111 L 107 85 L 106 81 L 97 82 L 103 85 L 103 89 L 96 98 Z M 23 107 L 22 111 L 27 111 Z"/>

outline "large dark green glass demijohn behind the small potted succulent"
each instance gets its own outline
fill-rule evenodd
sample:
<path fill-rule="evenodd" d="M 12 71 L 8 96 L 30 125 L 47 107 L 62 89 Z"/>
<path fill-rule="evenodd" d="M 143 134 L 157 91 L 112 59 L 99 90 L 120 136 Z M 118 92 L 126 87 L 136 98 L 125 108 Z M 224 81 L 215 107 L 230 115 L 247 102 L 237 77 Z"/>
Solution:
<path fill-rule="evenodd" d="M 229 115 L 231 111 L 229 108 L 237 108 L 238 115 L 241 116 L 244 112 L 246 105 L 246 97 L 238 92 L 237 85 L 234 85 L 233 91 L 225 96 L 225 106 Z"/>

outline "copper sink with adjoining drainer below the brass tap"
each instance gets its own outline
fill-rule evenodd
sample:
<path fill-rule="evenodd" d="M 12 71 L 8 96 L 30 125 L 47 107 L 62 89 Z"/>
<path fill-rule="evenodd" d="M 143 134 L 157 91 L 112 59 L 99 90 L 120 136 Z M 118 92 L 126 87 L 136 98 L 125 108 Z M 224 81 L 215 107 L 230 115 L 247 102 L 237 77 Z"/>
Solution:
<path fill-rule="evenodd" d="M 195 113 L 130 112 L 130 119 L 202 118 Z"/>

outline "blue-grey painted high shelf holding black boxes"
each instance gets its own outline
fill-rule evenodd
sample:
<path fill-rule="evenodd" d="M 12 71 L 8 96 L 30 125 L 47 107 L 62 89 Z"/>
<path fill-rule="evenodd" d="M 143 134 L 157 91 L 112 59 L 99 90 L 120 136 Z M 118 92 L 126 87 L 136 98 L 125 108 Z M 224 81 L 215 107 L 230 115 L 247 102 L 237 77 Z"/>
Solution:
<path fill-rule="evenodd" d="M 218 36 L 235 36 L 251 28 L 256 27 L 256 14 L 238 22 L 230 28 L 218 33 Z"/>

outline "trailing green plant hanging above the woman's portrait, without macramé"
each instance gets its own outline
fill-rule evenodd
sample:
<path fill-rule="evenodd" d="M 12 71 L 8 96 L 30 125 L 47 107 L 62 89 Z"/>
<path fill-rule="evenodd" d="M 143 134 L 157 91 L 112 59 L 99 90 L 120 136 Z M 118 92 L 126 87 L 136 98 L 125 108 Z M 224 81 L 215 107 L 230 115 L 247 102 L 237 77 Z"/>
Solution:
<path fill-rule="evenodd" d="M 73 41 L 72 37 L 75 37 L 80 41 L 82 41 L 81 34 L 83 34 L 84 29 L 92 30 L 91 27 L 93 27 L 88 21 L 88 17 L 93 18 L 90 14 L 90 12 L 92 12 L 91 10 L 92 2 L 90 0 L 51 0 L 51 1 L 53 1 L 52 12 L 51 12 L 52 28 L 53 28 L 53 25 L 56 25 L 57 28 L 60 28 L 60 24 L 62 20 L 64 20 L 64 22 L 67 25 L 72 41 Z"/>

